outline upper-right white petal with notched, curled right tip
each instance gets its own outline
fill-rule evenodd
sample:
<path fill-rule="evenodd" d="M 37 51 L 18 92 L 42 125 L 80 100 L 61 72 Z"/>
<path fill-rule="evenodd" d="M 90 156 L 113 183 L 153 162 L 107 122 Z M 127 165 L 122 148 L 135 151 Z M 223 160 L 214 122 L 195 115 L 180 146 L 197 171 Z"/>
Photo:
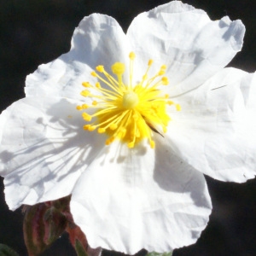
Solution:
<path fill-rule="evenodd" d="M 156 72 L 166 64 L 169 94 L 177 96 L 225 67 L 241 49 L 244 32 L 241 20 L 212 21 L 204 11 L 172 1 L 138 15 L 127 36 L 138 55 L 137 67 L 153 59 Z"/>

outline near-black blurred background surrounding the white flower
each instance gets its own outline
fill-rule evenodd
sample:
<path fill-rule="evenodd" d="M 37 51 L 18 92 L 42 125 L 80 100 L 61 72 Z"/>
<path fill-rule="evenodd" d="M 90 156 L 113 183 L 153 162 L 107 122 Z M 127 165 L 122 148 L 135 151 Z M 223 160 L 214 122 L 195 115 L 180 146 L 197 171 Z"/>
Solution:
<path fill-rule="evenodd" d="M 113 16 L 124 31 L 143 11 L 168 1 L 151 0 L 0 0 L 0 107 L 1 111 L 24 96 L 26 75 L 38 65 L 67 52 L 73 30 L 85 15 Z M 241 53 L 229 66 L 254 72 L 256 63 L 256 2 L 254 0 L 188 0 L 204 9 L 212 20 L 229 15 L 247 28 Z M 256 118 L 256 114 L 255 114 Z M 207 229 L 195 245 L 175 250 L 173 256 L 256 255 L 256 181 L 221 183 L 207 177 L 213 211 Z M 26 256 L 20 209 L 10 212 L 0 181 L 0 243 Z M 143 254 L 143 253 L 141 253 Z M 73 256 L 67 236 L 61 237 L 44 256 Z M 104 255 L 118 255 L 104 253 Z"/>

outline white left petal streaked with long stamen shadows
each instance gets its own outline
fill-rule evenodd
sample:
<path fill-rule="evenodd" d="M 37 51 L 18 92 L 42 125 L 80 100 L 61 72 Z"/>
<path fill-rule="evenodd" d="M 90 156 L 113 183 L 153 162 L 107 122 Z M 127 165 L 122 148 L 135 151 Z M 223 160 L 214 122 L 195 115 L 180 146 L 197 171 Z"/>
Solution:
<path fill-rule="evenodd" d="M 1 114 L 0 125 L 0 174 L 12 210 L 69 195 L 104 145 L 102 137 L 83 130 L 75 102 L 61 98 L 15 102 Z"/>

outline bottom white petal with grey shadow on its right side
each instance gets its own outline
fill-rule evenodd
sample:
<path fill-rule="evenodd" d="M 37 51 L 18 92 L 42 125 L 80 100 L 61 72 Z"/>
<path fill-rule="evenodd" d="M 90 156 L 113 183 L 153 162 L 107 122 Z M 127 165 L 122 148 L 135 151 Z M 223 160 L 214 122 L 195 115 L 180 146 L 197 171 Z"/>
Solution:
<path fill-rule="evenodd" d="M 164 144 L 109 149 L 79 178 L 71 200 L 90 247 L 133 254 L 194 243 L 212 208 L 203 175 Z"/>

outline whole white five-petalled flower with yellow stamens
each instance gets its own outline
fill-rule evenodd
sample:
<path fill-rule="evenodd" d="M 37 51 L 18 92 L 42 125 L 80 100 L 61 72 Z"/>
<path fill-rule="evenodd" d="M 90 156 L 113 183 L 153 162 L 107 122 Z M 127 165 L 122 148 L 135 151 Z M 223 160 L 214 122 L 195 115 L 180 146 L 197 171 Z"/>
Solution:
<path fill-rule="evenodd" d="M 224 68 L 244 32 L 179 1 L 126 34 L 85 17 L 71 50 L 27 76 L 26 98 L 1 114 L 9 208 L 72 194 L 90 247 L 194 243 L 212 209 L 204 174 L 242 183 L 256 171 L 255 75 Z"/>

